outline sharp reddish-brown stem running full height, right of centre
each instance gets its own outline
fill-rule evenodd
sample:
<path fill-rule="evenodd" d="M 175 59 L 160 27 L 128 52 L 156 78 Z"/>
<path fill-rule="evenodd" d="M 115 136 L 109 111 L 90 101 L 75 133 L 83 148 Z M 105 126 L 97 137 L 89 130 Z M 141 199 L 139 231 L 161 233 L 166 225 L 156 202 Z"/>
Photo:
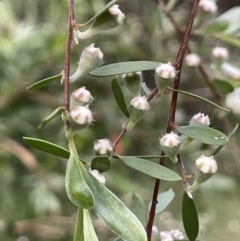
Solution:
<path fill-rule="evenodd" d="M 176 78 L 174 81 L 174 89 L 178 89 L 179 88 L 179 83 L 180 83 L 180 79 L 181 79 L 181 69 L 182 69 L 182 62 L 183 62 L 183 58 L 188 46 L 188 41 L 190 38 L 190 34 L 191 34 L 191 30 L 192 30 L 192 25 L 193 25 L 193 21 L 195 19 L 196 13 L 197 13 L 197 7 L 198 7 L 198 3 L 200 0 L 195 0 L 192 6 L 192 10 L 190 13 L 190 16 L 188 18 L 188 22 L 187 22 L 187 26 L 183 35 L 183 40 L 176 58 L 176 62 L 175 62 L 175 68 L 176 68 Z M 172 93 L 172 101 L 171 101 L 171 108 L 170 108 L 170 112 L 169 112 L 169 119 L 168 119 L 168 126 L 167 126 L 167 132 L 170 132 L 173 129 L 173 123 L 175 122 L 175 113 L 176 113 L 176 106 L 177 106 L 177 97 L 178 97 L 178 93 L 174 92 Z M 162 153 L 164 154 L 164 153 Z M 159 164 L 160 165 L 164 165 L 164 160 L 165 158 L 161 158 Z M 153 192 L 153 197 L 152 197 L 152 204 L 151 204 L 151 208 L 150 208 L 150 212 L 149 212 L 149 219 L 148 219 L 148 224 L 146 226 L 146 231 L 147 231 L 147 238 L 148 241 L 151 240 L 151 236 L 152 236 L 152 226 L 153 226 L 153 221 L 154 221 L 154 216 L 155 216 L 155 209 L 156 209 L 156 205 L 157 205 L 157 193 L 160 187 L 160 180 L 156 179 L 155 181 L 155 186 L 154 186 L 154 192 Z"/>

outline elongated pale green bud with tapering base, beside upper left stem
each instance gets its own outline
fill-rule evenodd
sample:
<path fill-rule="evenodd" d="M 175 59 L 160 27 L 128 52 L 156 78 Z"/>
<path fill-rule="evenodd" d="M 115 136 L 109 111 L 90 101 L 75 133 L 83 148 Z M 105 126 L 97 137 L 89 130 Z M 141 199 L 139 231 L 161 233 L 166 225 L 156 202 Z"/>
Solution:
<path fill-rule="evenodd" d="M 100 48 L 95 48 L 94 44 L 86 47 L 79 59 L 76 72 L 70 76 L 70 82 L 74 82 L 84 74 L 91 72 L 103 63 L 103 52 Z"/>

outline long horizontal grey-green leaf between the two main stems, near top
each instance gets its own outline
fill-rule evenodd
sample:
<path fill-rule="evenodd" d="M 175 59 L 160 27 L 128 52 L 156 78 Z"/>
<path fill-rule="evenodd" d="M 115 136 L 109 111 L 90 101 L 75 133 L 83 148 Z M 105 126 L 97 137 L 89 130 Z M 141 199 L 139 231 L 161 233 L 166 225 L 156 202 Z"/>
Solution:
<path fill-rule="evenodd" d="M 159 65 L 159 62 L 153 62 L 153 61 L 122 62 L 122 63 L 102 66 L 98 69 L 93 70 L 89 74 L 93 76 L 98 76 L 98 77 L 119 75 L 119 74 L 125 74 L 130 72 L 156 69 L 158 65 Z"/>

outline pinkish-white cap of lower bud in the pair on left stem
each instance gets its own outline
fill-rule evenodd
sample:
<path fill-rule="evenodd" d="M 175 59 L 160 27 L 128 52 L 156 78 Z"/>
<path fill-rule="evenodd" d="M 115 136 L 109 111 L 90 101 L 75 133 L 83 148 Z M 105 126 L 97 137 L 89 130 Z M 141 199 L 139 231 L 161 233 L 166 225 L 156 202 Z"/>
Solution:
<path fill-rule="evenodd" d="M 70 112 L 72 120 L 79 125 L 90 124 L 93 121 L 92 112 L 86 106 L 77 106 Z"/>

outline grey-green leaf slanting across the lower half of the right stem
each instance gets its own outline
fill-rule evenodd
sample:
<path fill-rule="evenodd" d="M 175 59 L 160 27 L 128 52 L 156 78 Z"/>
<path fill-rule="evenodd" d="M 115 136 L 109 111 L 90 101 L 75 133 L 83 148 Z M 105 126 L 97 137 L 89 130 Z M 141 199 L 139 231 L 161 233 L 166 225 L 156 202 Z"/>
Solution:
<path fill-rule="evenodd" d="M 136 158 L 133 156 L 120 156 L 119 157 L 127 166 L 145 173 L 151 177 L 167 180 L 179 181 L 182 178 L 174 171 L 159 165 L 157 163 L 147 161 L 144 159 Z"/>

